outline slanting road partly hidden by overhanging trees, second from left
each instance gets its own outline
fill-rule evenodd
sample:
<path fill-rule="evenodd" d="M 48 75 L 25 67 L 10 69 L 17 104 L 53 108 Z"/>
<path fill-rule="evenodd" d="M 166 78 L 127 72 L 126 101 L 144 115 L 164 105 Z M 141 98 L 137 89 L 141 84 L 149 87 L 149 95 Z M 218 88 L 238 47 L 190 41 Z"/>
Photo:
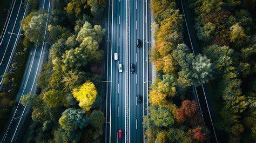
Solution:
<path fill-rule="evenodd" d="M 39 8 L 41 10 L 50 12 L 51 10 L 51 0 L 40 0 Z M 48 15 L 49 18 L 49 15 Z M 46 23 L 45 28 L 48 23 Z M 42 31 L 46 36 L 46 31 Z M 42 41 L 41 45 L 31 48 L 31 53 L 28 64 L 26 66 L 26 71 L 23 77 L 21 88 L 19 89 L 17 95 L 18 104 L 14 106 L 11 112 L 11 117 L 9 120 L 9 125 L 3 129 L 3 136 L 1 137 L 1 142 L 18 142 L 18 136 L 22 129 L 22 126 L 26 120 L 26 117 L 31 109 L 29 106 L 22 106 L 20 98 L 24 94 L 35 93 L 37 87 L 37 78 L 44 59 L 45 48 L 49 48 L 49 44 Z"/>

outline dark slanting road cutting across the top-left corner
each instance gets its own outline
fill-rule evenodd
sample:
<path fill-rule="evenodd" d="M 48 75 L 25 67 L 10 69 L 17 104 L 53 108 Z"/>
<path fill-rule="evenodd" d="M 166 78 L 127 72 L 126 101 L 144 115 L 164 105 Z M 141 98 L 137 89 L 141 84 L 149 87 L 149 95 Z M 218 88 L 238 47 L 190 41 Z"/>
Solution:
<path fill-rule="evenodd" d="M 28 5 L 24 5 L 24 0 L 14 0 L 8 18 L 5 20 L 4 29 L 0 31 L 0 90 L 3 86 L 2 75 L 8 72 L 19 36 L 22 36 L 19 22 L 25 18 L 27 11 Z"/>

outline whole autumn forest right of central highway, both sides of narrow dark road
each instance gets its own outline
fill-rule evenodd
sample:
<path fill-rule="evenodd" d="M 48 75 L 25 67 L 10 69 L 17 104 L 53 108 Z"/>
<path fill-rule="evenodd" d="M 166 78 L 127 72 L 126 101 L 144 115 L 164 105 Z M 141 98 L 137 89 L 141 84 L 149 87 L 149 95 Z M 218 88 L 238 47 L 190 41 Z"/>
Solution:
<path fill-rule="evenodd" d="M 207 142 L 190 87 L 211 88 L 220 141 L 255 142 L 255 1 L 188 1 L 200 54 L 183 44 L 184 16 L 176 1 L 153 0 L 157 79 L 149 93 L 149 142 Z M 193 15 L 192 15 L 193 16 Z"/>

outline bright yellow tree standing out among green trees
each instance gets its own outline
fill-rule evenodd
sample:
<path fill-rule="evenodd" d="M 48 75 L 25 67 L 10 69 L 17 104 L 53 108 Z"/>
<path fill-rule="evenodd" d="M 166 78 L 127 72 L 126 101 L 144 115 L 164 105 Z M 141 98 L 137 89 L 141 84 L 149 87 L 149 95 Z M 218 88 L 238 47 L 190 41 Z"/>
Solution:
<path fill-rule="evenodd" d="M 83 85 L 73 89 L 73 97 L 79 101 L 79 107 L 85 111 L 89 111 L 95 103 L 97 97 L 97 89 L 91 81 L 86 81 Z"/>

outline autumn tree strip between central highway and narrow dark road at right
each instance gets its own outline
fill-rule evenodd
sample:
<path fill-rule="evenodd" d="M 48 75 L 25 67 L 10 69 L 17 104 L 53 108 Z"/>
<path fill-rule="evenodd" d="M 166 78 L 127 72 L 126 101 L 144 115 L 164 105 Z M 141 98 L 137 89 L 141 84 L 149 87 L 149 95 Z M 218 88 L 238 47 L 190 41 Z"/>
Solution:
<path fill-rule="evenodd" d="M 151 28 L 156 45 L 151 61 L 157 79 L 149 93 L 148 142 L 207 142 L 210 131 L 203 123 L 190 86 L 212 78 L 212 64 L 203 55 L 193 56 L 182 43 L 183 15 L 175 1 L 153 0 L 154 23 Z"/>

